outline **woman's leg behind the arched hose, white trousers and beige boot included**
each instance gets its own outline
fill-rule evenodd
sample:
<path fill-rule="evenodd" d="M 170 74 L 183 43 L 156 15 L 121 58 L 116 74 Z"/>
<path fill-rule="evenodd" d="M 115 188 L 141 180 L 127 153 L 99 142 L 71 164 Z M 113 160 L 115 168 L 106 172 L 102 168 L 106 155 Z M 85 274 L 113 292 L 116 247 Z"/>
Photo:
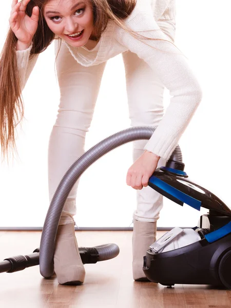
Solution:
<path fill-rule="evenodd" d="M 67 169 L 84 152 L 85 135 L 91 123 L 105 64 L 83 67 L 65 46 L 56 60 L 60 106 L 51 132 L 48 153 L 50 200 Z M 74 235 L 75 198 L 78 183 L 68 196 L 57 230 L 54 271 L 60 284 L 84 282 L 85 269 Z"/>

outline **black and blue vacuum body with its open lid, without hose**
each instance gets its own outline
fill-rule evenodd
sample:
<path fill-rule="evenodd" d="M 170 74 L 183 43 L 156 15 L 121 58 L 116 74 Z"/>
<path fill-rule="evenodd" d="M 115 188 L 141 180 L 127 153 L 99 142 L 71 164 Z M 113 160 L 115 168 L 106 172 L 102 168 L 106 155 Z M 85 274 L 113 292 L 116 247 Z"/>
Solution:
<path fill-rule="evenodd" d="M 148 184 L 180 205 L 209 210 L 193 228 L 200 240 L 162 252 L 174 232 L 167 233 L 156 242 L 159 251 L 153 249 L 154 243 L 146 252 L 143 271 L 150 281 L 167 286 L 179 283 L 231 288 L 231 211 L 210 191 L 190 181 L 182 169 L 161 167 Z"/>

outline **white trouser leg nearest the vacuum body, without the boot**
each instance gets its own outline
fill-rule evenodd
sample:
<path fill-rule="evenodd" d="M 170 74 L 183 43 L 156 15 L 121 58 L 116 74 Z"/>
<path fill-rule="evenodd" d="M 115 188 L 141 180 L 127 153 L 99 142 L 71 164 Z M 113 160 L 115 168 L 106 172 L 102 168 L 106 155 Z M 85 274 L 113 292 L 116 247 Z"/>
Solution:
<path fill-rule="evenodd" d="M 157 126 L 163 117 L 164 87 L 150 67 L 136 54 L 123 54 L 126 71 L 127 96 L 131 126 Z M 144 152 L 146 140 L 133 143 L 133 161 Z M 160 159 L 159 165 L 165 164 Z M 137 191 L 137 210 L 134 219 L 156 222 L 162 208 L 162 196 L 152 188 Z"/>

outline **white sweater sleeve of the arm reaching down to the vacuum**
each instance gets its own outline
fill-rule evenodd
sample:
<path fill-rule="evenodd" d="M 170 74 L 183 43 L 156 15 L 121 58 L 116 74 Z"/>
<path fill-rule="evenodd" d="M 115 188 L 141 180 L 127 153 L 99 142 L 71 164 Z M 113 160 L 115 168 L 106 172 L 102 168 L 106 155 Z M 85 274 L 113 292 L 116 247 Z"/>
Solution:
<path fill-rule="evenodd" d="M 169 38 L 158 27 L 151 10 L 150 13 L 140 11 L 130 20 L 128 18 L 126 25 L 132 31 L 151 39 L 138 40 L 118 27 L 115 40 L 137 53 L 155 70 L 171 95 L 164 117 L 144 147 L 168 160 L 201 101 L 201 88 L 185 56 L 168 41 Z"/>

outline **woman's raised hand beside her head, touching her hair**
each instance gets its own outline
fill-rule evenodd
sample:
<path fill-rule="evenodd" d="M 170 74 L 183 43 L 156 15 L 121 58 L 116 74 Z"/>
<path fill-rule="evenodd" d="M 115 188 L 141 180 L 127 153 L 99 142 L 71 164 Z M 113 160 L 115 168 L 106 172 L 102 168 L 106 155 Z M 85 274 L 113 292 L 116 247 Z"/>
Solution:
<path fill-rule="evenodd" d="M 39 10 L 35 6 L 31 17 L 29 17 L 25 10 L 30 0 L 17 1 L 13 0 L 12 2 L 9 22 L 11 30 L 18 39 L 17 45 L 20 46 L 19 49 L 24 49 L 23 47 L 28 48 L 30 46 L 37 30 Z"/>

